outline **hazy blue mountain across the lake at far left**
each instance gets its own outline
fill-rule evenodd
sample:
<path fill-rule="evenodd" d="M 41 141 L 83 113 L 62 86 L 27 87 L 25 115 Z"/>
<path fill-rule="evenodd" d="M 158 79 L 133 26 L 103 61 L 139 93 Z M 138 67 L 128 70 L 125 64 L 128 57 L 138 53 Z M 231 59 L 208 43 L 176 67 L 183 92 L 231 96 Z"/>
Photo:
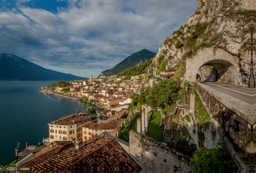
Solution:
<path fill-rule="evenodd" d="M 88 79 L 49 70 L 16 55 L 0 54 L 0 80 L 78 80 Z"/>

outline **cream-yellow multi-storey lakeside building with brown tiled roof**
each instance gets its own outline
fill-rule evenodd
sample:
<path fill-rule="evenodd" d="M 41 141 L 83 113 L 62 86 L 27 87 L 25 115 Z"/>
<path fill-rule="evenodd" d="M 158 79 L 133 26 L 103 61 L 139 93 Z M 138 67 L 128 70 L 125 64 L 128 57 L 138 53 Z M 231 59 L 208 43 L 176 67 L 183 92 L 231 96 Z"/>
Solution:
<path fill-rule="evenodd" d="M 82 137 L 82 125 L 95 120 L 95 118 L 71 115 L 49 123 L 49 142 L 72 141 L 73 138 Z M 97 120 L 97 118 L 96 118 Z"/>

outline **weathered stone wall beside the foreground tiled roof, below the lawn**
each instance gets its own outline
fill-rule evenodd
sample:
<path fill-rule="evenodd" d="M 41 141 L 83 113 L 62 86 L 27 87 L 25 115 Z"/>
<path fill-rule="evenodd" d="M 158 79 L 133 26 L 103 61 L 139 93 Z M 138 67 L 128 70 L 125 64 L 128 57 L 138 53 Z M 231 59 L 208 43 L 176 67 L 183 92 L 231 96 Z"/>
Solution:
<path fill-rule="evenodd" d="M 130 131 L 130 154 L 145 165 L 147 173 L 192 173 L 190 157 L 164 143 Z"/>

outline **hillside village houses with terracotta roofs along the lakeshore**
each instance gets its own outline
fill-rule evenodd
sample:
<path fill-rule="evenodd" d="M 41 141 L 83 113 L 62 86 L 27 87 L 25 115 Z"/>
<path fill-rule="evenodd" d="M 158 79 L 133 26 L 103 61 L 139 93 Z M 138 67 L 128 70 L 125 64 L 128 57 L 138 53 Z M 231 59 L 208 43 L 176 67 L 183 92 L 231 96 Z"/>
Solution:
<path fill-rule="evenodd" d="M 87 140 L 101 132 L 116 133 L 116 128 L 123 122 L 121 118 L 127 113 L 127 108 L 132 103 L 130 96 L 133 93 L 140 94 L 141 88 L 152 86 L 161 79 L 170 79 L 174 76 L 176 67 L 162 71 L 160 75 L 147 79 L 145 74 L 132 76 L 130 80 L 124 80 L 125 76 L 116 78 L 115 75 L 108 77 L 100 76 L 88 80 L 69 82 L 68 87 L 56 87 L 54 93 L 63 96 L 81 97 L 92 100 L 93 104 L 105 109 L 103 119 L 97 117 L 72 115 L 49 123 L 49 139 L 52 141 L 72 141 L 74 139 Z M 45 87 L 47 88 L 47 87 Z M 48 88 L 42 91 L 49 91 Z M 122 112 L 121 112 L 122 111 Z M 119 114 L 118 114 L 119 112 Z M 116 116 L 117 119 L 114 117 Z M 103 121 L 103 122 L 102 122 Z"/>

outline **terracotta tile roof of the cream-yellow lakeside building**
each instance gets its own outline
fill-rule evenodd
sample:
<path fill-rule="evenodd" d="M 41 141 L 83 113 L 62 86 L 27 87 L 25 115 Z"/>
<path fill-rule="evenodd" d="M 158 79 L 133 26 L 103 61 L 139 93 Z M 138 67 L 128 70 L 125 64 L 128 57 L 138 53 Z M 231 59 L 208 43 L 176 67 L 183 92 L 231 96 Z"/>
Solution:
<path fill-rule="evenodd" d="M 80 115 L 72 115 L 72 116 L 61 118 L 61 119 L 55 121 L 54 125 L 56 125 L 56 124 L 57 125 L 71 125 L 71 124 L 73 124 L 73 120 L 74 120 L 75 124 L 77 124 L 77 123 L 80 123 L 80 122 L 88 120 L 88 119 L 90 119 L 90 117 L 80 116 Z M 48 123 L 48 124 L 53 124 L 53 122 Z"/>

